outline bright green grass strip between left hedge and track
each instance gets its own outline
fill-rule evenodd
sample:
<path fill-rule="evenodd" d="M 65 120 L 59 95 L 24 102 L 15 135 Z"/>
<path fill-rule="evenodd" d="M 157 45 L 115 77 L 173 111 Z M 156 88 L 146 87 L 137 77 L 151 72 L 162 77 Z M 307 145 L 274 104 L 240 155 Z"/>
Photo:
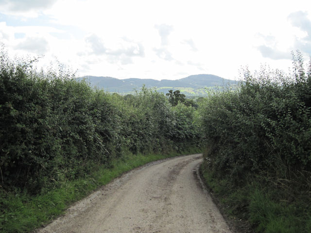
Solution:
<path fill-rule="evenodd" d="M 113 161 L 109 168 L 98 166 L 84 178 L 62 183 L 60 187 L 45 190 L 37 196 L 18 191 L 4 192 L 0 189 L 0 232 L 32 232 L 63 214 L 73 202 L 81 200 L 124 172 L 156 160 L 197 152 L 201 151 L 190 148 L 182 153 L 128 154 L 124 158 Z"/>

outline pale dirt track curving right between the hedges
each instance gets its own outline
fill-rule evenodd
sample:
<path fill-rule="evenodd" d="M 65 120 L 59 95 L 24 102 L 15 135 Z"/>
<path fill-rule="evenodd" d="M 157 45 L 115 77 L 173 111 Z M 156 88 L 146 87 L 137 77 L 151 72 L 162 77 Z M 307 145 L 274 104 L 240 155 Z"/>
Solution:
<path fill-rule="evenodd" d="M 200 154 L 140 167 L 38 233 L 230 233 L 198 178 Z"/>

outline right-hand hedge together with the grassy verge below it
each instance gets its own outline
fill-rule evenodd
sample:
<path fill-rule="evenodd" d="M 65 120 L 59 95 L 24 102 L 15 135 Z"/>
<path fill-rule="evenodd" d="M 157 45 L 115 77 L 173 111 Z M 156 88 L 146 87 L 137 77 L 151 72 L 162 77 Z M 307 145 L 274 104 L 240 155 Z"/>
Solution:
<path fill-rule="evenodd" d="M 244 70 L 238 90 L 202 106 L 208 186 L 227 213 L 260 233 L 311 232 L 311 63 Z"/>

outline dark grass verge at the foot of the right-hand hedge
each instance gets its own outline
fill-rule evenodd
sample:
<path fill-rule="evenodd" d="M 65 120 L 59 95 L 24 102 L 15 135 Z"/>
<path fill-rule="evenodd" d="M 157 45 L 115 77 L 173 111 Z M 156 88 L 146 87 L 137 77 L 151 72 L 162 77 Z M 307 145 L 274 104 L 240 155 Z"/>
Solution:
<path fill-rule="evenodd" d="M 283 190 L 254 178 L 234 187 L 225 178 L 215 178 L 204 165 L 201 174 L 213 198 L 239 232 L 310 233 L 311 199 L 303 195 L 286 199 Z M 246 224 L 245 224 L 246 223 Z M 245 225 L 247 228 L 245 229 Z"/>

